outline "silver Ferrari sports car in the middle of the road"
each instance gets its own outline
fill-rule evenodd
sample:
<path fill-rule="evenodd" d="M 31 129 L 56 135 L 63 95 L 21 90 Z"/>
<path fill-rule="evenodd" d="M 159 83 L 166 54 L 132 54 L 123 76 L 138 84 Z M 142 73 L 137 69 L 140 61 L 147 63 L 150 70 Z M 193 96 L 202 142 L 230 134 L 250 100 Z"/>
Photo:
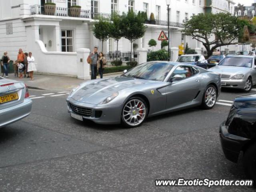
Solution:
<path fill-rule="evenodd" d="M 218 74 L 195 65 L 146 62 L 122 76 L 84 82 L 66 101 L 72 118 L 135 127 L 146 117 L 175 110 L 200 105 L 211 109 L 220 86 Z"/>

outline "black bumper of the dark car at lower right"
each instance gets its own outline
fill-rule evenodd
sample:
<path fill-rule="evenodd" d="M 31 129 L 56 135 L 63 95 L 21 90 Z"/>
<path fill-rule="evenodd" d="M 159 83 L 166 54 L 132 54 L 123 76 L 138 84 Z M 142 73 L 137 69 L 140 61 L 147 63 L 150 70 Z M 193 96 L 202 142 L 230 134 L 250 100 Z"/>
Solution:
<path fill-rule="evenodd" d="M 248 138 L 228 133 L 228 126 L 225 125 L 225 122 L 220 125 L 220 142 L 224 155 L 228 160 L 236 163 L 240 151 L 249 141 L 250 139 Z"/>

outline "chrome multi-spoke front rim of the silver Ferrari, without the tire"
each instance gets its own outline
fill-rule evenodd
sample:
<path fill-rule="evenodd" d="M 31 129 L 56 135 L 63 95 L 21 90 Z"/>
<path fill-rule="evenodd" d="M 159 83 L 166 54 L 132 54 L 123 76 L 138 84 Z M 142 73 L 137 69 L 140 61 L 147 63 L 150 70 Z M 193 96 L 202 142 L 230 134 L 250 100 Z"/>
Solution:
<path fill-rule="evenodd" d="M 146 106 L 139 99 L 132 99 L 123 109 L 123 119 L 130 126 L 137 126 L 146 117 Z"/>

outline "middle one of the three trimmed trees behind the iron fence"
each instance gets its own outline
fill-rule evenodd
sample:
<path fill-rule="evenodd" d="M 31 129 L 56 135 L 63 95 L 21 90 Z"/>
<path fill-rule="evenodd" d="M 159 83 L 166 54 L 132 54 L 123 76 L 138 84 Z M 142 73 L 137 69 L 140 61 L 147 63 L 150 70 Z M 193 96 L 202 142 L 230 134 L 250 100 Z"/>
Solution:
<path fill-rule="evenodd" d="M 111 15 L 111 22 L 110 22 L 110 34 L 109 36 L 116 41 L 116 53 L 118 52 L 118 41 L 123 36 L 122 30 L 122 18 L 116 12 Z"/>

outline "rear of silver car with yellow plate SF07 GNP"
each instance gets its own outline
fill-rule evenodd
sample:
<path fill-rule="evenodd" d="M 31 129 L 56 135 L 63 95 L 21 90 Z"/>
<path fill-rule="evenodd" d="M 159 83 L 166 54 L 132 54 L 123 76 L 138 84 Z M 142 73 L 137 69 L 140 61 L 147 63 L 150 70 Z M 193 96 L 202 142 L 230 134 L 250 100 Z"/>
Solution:
<path fill-rule="evenodd" d="M 0 77 L 0 128 L 30 114 L 32 100 L 24 82 Z"/>

